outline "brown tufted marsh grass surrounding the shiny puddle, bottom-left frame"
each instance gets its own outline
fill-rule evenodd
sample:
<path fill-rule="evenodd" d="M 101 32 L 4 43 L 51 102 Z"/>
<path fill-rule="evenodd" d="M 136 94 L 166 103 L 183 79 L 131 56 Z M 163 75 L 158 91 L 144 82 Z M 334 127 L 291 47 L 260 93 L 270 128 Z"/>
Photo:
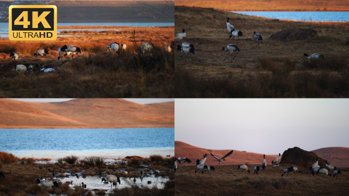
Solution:
<path fill-rule="evenodd" d="M 97 162 L 90 164 L 87 162 L 88 160 L 99 161 L 98 163 L 100 163 L 100 165 L 97 165 Z M 118 177 L 138 177 L 139 171 L 143 171 L 146 175 L 148 171 L 159 170 L 155 171 L 157 176 L 168 176 L 171 179 L 174 178 L 174 171 L 172 170 L 174 168 L 174 157 L 163 158 L 160 155 L 151 155 L 148 158 L 133 157 L 132 159 L 115 162 L 111 165 L 106 165 L 103 157 L 87 157 L 79 160 L 78 157 L 73 155 L 61 158 L 56 164 L 37 164 L 29 159 L 26 161 L 22 159 L 19 162 L 14 163 L 2 163 L 2 161 L 0 161 L 0 163 L 0 171 L 5 175 L 5 178 L 0 178 L 0 195 L 92 195 L 92 192 L 82 189 L 79 184 L 72 189 L 65 183 L 66 181 L 70 182 L 70 179 L 65 179 L 63 173 L 76 174 L 81 171 L 82 175 L 99 175 L 102 179 L 104 174 L 112 174 Z M 149 164 L 150 166 L 144 167 L 140 165 L 141 163 Z M 127 174 L 123 169 L 128 171 Z M 37 185 L 35 180 L 39 177 L 48 179 L 55 178 L 52 176 L 53 172 L 56 174 L 55 177 L 60 179 L 58 182 L 59 188 L 47 189 Z M 99 190 L 95 193 L 104 195 L 106 192 L 104 190 Z M 135 186 L 132 188 L 118 189 L 108 195 L 120 194 L 173 195 L 174 181 L 169 180 L 165 184 L 164 189 L 139 188 L 138 186 Z"/>

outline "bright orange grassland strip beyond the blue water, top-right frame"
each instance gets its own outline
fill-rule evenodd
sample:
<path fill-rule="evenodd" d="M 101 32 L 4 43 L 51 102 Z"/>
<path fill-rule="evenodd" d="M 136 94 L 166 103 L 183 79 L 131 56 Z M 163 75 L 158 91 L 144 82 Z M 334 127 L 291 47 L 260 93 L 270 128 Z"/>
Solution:
<path fill-rule="evenodd" d="M 177 0 L 176 6 L 215 8 L 227 11 L 348 11 L 349 2 L 340 0 Z"/>

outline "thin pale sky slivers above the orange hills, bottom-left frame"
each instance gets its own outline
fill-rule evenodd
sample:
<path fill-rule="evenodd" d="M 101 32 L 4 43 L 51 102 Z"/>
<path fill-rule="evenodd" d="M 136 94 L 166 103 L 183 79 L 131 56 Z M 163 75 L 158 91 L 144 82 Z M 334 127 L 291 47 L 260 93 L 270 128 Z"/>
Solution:
<path fill-rule="evenodd" d="M 19 100 L 23 102 L 66 102 L 72 99 L 9 99 L 9 100 Z M 124 99 L 130 102 L 135 102 L 138 104 L 152 104 L 161 102 L 173 102 L 174 99 Z"/>

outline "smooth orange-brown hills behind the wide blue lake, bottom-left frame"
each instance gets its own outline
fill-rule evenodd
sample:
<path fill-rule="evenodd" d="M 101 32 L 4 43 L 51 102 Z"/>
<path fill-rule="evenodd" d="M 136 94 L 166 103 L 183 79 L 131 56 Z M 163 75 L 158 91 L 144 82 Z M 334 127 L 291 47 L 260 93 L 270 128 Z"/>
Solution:
<path fill-rule="evenodd" d="M 174 127 L 174 102 L 142 105 L 123 99 L 62 103 L 0 100 L 0 129 Z"/>

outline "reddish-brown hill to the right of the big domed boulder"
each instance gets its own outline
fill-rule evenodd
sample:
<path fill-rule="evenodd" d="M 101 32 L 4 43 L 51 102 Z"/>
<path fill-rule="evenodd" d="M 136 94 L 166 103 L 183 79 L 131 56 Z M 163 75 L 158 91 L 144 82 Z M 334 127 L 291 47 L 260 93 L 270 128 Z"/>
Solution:
<path fill-rule="evenodd" d="M 312 151 L 336 167 L 349 167 L 349 148 L 330 147 Z"/>

